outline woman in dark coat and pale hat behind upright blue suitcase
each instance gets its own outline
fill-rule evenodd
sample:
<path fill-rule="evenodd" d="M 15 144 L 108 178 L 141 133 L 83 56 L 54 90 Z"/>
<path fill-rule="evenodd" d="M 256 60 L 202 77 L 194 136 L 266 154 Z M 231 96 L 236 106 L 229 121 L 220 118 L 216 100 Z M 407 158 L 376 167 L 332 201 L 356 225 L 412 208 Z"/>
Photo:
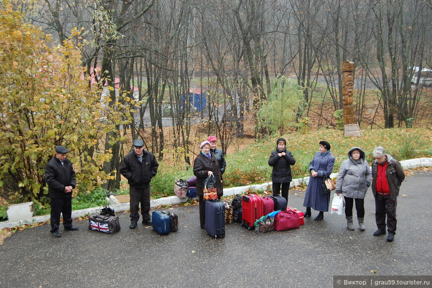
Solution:
<path fill-rule="evenodd" d="M 204 200 L 204 182 L 213 174 L 216 177 L 217 198 L 223 195 L 222 176 L 219 163 L 215 155 L 210 153 L 210 142 L 204 141 L 200 145 L 201 152 L 194 161 L 194 175 L 197 177 L 197 195 L 200 199 L 200 226 L 205 228 L 206 224 L 206 202 Z"/>

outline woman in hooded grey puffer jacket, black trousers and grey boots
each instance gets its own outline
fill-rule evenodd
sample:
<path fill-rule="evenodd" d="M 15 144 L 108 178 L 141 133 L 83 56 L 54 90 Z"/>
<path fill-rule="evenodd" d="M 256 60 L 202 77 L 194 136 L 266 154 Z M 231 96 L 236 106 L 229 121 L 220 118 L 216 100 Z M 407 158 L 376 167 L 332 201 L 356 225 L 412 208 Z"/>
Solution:
<path fill-rule="evenodd" d="M 348 152 L 348 159 L 342 162 L 336 181 L 336 193 L 345 198 L 345 217 L 348 229 L 354 230 L 353 204 L 356 201 L 357 219 L 360 230 L 364 231 L 364 196 L 372 182 L 372 172 L 367 164 L 365 154 L 359 147 Z"/>

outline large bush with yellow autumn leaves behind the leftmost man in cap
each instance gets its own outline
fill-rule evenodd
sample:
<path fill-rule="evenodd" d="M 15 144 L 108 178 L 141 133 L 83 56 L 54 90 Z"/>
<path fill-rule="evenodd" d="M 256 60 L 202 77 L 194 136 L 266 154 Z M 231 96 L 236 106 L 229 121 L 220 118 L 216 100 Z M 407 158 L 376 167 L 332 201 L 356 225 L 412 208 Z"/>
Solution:
<path fill-rule="evenodd" d="M 75 41 L 81 30 L 51 47 L 50 35 L 10 3 L 0 4 L 0 14 L 0 196 L 19 202 L 46 195 L 44 168 L 56 145 L 71 151 L 77 188 L 91 191 L 111 177 L 102 171 L 111 151 L 99 144 L 118 137 L 115 125 L 125 120 L 101 98 L 101 87 L 88 85 Z"/>

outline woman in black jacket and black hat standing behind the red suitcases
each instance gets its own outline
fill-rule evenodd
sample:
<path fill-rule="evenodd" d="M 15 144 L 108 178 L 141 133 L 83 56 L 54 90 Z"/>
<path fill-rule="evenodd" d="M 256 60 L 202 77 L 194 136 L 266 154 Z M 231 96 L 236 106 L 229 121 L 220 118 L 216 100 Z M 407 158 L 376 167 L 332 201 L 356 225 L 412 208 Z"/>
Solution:
<path fill-rule="evenodd" d="M 276 150 L 272 152 L 269 159 L 269 165 L 273 167 L 273 196 L 279 194 L 282 188 L 282 197 L 287 199 L 288 203 L 289 184 L 292 181 L 291 165 L 295 164 L 295 159 L 287 150 L 287 141 L 284 138 L 279 138 L 276 144 Z"/>

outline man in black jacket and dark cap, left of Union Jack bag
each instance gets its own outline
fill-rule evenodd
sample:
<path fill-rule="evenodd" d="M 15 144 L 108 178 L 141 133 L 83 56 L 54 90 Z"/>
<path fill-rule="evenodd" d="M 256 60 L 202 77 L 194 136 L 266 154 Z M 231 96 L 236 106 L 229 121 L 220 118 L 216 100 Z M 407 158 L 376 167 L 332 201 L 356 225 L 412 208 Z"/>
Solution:
<path fill-rule="evenodd" d="M 75 188 L 75 172 L 72 162 L 66 159 L 69 152 L 64 146 L 56 147 L 56 155 L 45 166 L 45 181 L 51 199 L 51 233 L 61 237 L 59 233 L 60 213 L 63 214 L 65 230 L 76 231 L 72 226 L 72 189 Z"/>

